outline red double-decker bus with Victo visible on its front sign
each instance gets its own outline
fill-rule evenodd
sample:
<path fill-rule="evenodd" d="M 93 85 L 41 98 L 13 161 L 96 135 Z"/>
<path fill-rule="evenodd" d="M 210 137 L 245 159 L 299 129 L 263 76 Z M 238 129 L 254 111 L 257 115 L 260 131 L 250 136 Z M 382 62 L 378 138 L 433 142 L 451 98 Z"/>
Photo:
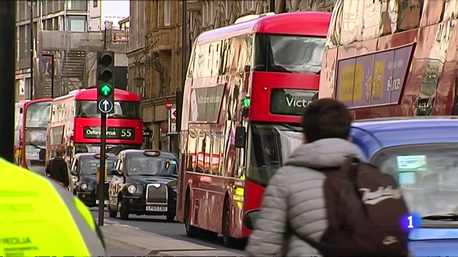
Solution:
<path fill-rule="evenodd" d="M 246 211 L 301 143 L 331 13 L 293 12 L 204 32 L 184 90 L 176 218 L 188 236 L 249 236 Z"/>

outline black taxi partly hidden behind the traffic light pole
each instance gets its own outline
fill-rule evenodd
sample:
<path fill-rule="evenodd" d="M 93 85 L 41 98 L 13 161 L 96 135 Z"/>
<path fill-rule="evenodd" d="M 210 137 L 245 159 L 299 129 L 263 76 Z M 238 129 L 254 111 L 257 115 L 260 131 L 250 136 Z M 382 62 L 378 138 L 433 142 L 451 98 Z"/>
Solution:
<path fill-rule="evenodd" d="M 105 182 L 104 203 L 108 204 L 108 187 L 111 179 L 111 170 L 116 163 L 116 155 L 106 154 L 107 181 Z M 87 207 L 98 206 L 97 166 L 100 165 L 99 154 L 76 154 L 71 164 L 71 177 L 74 182 L 73 194 L 76 195 Z"/>

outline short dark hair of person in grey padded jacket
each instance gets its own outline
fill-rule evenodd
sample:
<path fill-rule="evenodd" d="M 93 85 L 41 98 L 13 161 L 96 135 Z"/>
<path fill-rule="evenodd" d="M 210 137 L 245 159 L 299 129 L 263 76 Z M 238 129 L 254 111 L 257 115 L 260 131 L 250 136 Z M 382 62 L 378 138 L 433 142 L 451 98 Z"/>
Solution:
<path fill-rule="evenodd" d="M 319 139 L 347 139 L 351 115 L 347 107 L 332 98 L 311 102 L 302 115 L 302 129 L 308 143 Z"/>

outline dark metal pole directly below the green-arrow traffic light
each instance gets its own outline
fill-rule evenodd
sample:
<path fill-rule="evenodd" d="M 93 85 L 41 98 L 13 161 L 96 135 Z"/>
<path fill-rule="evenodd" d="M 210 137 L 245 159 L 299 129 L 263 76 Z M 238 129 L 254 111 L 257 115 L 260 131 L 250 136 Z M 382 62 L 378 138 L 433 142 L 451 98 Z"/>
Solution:
<path fill-rule="evenodd" d="M 101 113 L 101 124 L 100 124 L 100 174 L 98 183 L 98 225 L 104 225 L 104 193 L 105 193 L 105 141 L 106 141 L 106 130 L 107 130 L 107 114 Z"/>

